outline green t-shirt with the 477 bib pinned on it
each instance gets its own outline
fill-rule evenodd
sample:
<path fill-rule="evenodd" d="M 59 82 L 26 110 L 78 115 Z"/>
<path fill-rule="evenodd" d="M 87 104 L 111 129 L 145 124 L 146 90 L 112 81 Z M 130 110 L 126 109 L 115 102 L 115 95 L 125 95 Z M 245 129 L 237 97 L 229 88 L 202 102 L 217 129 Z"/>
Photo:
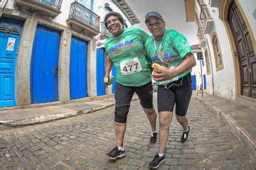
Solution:
<path fill-rule="evenodd" d="M 118 37 L 105 42 L 107 56 L 117 68 L 117 82 L 124 86 L 142 86 L 151 81 L 149 57 L 144 42 L 149 35 L 139 28 L 124 29 Z"/>

